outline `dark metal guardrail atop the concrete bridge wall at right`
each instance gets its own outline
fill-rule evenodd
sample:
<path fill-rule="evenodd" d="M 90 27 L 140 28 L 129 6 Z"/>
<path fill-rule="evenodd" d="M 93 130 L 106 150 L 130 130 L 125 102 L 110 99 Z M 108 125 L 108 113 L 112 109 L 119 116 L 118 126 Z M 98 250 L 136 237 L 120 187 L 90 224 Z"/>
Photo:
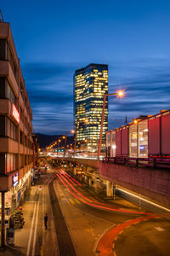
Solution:
<path fill-rule="evenodd" d="M 122 164 L 124 166 L 146 166 L 152 168 L 170 169 L 170 159 L 164 158 L 133 158 L 133 157 L 105 157 L 105 163 Z"/>

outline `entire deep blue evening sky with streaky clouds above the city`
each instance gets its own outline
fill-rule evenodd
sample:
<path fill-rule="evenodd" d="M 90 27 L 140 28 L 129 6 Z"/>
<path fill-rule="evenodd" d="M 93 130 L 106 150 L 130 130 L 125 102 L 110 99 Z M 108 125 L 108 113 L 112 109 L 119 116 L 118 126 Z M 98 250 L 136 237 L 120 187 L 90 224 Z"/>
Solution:
<path fill-rule="evenodd" d="M 73 74 L 109 65 L 109 130 L 170 108 L 170 2 L 165 0 L 2 1 L 33 112 L 34 131 L 73 126 Z"/>

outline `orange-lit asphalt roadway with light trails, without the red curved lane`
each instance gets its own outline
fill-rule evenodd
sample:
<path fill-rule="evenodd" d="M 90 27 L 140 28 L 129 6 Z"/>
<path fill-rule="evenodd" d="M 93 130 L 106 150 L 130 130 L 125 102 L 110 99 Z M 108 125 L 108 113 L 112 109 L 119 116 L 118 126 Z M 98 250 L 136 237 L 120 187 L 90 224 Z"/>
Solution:
<path fill-rule="evenodd" d="M 73 180 L 72 182 L 75 183 Z M 105 234 L 106 230 L 109 230 L 111 227 L 114 228 L 116 225 L 122 224 L 129 219 L 144 216 L 130 213 L 138 212 L 139 207 L 128 201 L 118 197 L 116 197 L 115 202 L 100 200 L 97 198 L 97 195 L 89 191 L 86 185 L 79 186 L 73 183 L 71 183 L 71 177 L 63 176 L 62 174 L 60 177 L 57 177 L 55 191 L 59 200 L 59 206 L 65 215 L 65 222 L 69 227 L 73 243 L 77 249 L 77 255 L 94 255 L 98 241 Z M 89 201 L 82 197 L 80 193 L 90 200 L 97 201 L 93 202 L 94 205 L 104 207 L 105 205 L 102 205 L 102 203 L 109 205 L 109 207 L 112 205 L 116 211 L 120 210 L 122 212 L 89 205 L 86 203 Z M 135 235 L 133 236 L 133 234 Z M 154 218 L 147 220 L 147 222 L 133 224 L 128 229 L 122 230 L 122 233 L 116 237 L 117 239 L 114 243 L 115 255 L 167 256 L 170 254 L 167 239 L 169 234 L 169 221 L 166 218 Z M 156 236 L 156 239 L 153 236 Z M 160 236 L 161 238 L 159 238 Z M 86 242 L 84 243 L 84 241 Z"/>

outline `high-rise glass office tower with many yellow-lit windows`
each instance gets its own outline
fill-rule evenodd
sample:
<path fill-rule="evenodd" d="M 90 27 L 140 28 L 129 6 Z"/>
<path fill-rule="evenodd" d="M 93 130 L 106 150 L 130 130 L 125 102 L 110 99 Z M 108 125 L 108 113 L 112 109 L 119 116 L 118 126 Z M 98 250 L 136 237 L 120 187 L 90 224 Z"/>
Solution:
<path fill-rule="evenodd" d="M 77 143 L 85 141 L 88 152 L 96 152 L 98 148 L 105 93 L 108 93 L 108 65 L 91 63 L 87 67 L 76 70 L 74 74 L 74 113 Z M 103 145 L 107 130 L 108 99 L 106 98 Z"/>

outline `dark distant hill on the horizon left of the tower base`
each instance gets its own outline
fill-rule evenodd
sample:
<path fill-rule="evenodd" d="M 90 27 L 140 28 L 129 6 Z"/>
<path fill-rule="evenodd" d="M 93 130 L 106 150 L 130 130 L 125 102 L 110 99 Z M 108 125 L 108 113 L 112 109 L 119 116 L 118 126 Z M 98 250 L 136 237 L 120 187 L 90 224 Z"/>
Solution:
<path fill-rule="evenodd" d="M 36 133 L 37 137 L 39 137 L 39 144 L 40 148 L 46 148 L 50 143 L 53 143 L 63 135 L 47 135 L 47 134 L 42 134 L 42 133 Z M 68 136 L 67 137 L 67 143 L 74 143 L 74 137 L 73 136 Z M 64 141 L 60 145 L 64 144 Z"/>

